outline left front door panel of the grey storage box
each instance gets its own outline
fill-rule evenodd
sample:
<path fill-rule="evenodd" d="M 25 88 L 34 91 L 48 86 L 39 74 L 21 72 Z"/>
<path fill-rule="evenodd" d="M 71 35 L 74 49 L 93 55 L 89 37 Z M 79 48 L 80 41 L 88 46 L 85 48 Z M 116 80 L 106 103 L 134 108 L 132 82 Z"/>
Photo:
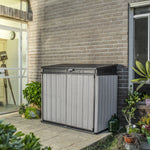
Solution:
<path fill-rule="evenodd" d="M 43 74 L 42 119 L 66 123 L 66 75 Z"/>

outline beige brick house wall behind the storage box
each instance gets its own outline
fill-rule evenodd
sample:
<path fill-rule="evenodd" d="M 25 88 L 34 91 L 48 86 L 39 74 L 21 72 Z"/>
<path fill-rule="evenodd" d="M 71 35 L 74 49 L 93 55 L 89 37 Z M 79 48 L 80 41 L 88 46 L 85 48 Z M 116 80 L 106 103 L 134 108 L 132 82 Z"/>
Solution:
<path fill-rule="evenodd" d="M 142 1 L 142 0 L 137 0 Z M 29 82 L 41 66 L 119 64 L 118 114 L 128 93 L 128 4 L 135 0 L 30 0 Z"/>

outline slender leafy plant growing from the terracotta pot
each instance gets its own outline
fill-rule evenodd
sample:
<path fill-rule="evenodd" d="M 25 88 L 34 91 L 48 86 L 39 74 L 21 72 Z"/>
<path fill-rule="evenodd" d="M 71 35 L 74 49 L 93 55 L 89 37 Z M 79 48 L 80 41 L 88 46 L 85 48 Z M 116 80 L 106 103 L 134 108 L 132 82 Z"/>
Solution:
<path fill-rule="evenodd" d="M 134 115 L 136 110 L 136 103 L 140 100 L 140 93 L 137 91 L 132 92 L 130 89 L 128 98 L 125 100 L 127 106 L 122 109 L 123 115 L 129 126 L 131 126 L 132 119 L 135 119 Z"/>

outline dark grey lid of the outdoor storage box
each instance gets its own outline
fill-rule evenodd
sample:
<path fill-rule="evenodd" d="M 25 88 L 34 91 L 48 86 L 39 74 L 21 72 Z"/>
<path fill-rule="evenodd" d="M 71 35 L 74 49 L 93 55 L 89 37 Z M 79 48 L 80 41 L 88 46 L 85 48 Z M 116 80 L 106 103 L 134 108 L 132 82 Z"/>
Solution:
<path fill-rule="evenodd" d="M 111 64 L 57 64 L 42 66 L 43 73 L 80 73 L 115 75 L 117 65 Z"/>

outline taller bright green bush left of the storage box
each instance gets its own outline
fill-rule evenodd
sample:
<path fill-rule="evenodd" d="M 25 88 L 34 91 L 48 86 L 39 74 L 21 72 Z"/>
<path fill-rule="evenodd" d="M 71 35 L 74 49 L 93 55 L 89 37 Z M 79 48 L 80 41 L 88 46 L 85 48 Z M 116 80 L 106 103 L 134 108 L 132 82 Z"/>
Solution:
<path fill-rule="evenodd" d="M 33 103 L 39 108 L 41 107 L 41 83 L 40 82 L 31 82 L 26 84 L 26 88 L 23 90 L 24 98 L 28 101 L 29 104 Z"/>

